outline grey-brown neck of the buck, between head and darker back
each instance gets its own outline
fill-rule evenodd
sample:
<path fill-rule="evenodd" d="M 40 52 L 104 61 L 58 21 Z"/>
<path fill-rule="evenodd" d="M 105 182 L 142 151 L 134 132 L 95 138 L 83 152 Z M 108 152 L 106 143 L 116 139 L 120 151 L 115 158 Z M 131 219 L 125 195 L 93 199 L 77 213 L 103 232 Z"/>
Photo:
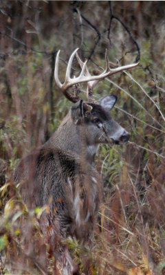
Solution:
<path fill-rule="evenodd" d="M 43 145 L 44 148 L 61 148 L 72 151 L 78 156 L 84 155 L 87 162 L 93 163 L 98 151 L 98 144 L 89 144 L 85 140 L 85 128 L 76 125 L 67 115 L 50 140 Z"/>

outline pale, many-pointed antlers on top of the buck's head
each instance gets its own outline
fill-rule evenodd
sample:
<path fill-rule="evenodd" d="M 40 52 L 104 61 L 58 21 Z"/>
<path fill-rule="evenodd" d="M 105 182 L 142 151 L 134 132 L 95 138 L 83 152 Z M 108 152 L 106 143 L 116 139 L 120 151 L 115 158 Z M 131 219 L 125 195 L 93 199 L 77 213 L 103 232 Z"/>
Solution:
<path fill-rule="evenodd" d="M 125 65 L 122 67 L 117 67 L 115 69 L 111 69 L 109 67 L 109 59 L 108 59 L 108 54 L 107 54 L 107 50 L 106 50 L 106 52 L 105 52 L 106 68 L 104 69 L 104 72 L 102 72 L 102 74 L 100 74 L 98 76 L 91 76 L 91 74 L 89 74 L 89 71 L 87 69 L 87 61 L 85 61 L 85 62 L 81 61 L 77 52 L 78 52 L 78 48 L 76 50 L 74 50 L 74 52 L 72 53 L 72 55 L 69 58 L 69 62 L 67 65 L 67 71 L 66 71 L 66 75 L 65 75 L 65 82 L 63 84 L 61 83 L 61 81 L 58 78 L 58 63 L 59 63 L 60 50 L 58 51 L 58 53 L 56 55 L 56 64 L 55 64 L 55 69 L 54 69 L 54 78 L 56 81 L 56 85 L 58 85 L 58 87 L 61 89 L 63 94 L 72 102 L 77 102 L 78 100 L 80 100 L 80 98 L 73 96 L 72 94 L 69 94 L 67 92 L 67 89 L 69 87 L 72 87 L 73 85 L 76 85 L 78 83 L 87 83 L 87 97 L 88 97 L 89 101 L 91 101 L 92 100 L 92 91 L 93 91 L 94 87 L 96 86 L 96 84 L 100 80 L 106 78 L 107 76 L 111 76 L 112 74 L 116 74 L 116 73 L 122 72 L 126 69 L 131 69 L 133 67 L 136 67 L 139 64 L 139 63 L 135 63 L 135 64 Z M 72 61 L 74 59 L 75 54 L 76 54 L 78 63 L 81 67 L 81 72 L 80 72 L 79 76 L 71 78 L 70 73 L 71 73 L 71 68 L 72 68 Z"/>

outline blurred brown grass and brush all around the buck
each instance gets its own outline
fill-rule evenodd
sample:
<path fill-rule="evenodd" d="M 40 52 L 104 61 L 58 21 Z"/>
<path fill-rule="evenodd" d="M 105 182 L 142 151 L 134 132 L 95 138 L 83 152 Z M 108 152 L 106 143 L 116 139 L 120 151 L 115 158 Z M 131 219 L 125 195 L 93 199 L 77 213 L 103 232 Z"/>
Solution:
<path fill-rule="evenodd" d="M 165 3 L 164 1 L 5 1 L 0 3 L 0 272 L 44 274 L 43 237 L 12 184 L 19 159 L 41 146 L 72 106 L 54 83 L 79 47 L 92 74 L 104 52 L 115 65 L 140 65 L 105 79 L 96 99 L 118 96 L 112 115 L 131 133 L 121 146 L 102 146 L 96 168 L 104 180 L 92 253 L 69 239 L 83 273 L 165 274 Z M 76 60 L 72 75 L 80 68 Z M 85 85 L 80 85 L 85 99 Z M 22 220 L 26 228 L 22 227 Z M 29 241 L 31 240 L 31 241 Z M 84 251 L 85 250 L 85 251 Z M 49 248 L 50 274 L 61 274 Z"/>

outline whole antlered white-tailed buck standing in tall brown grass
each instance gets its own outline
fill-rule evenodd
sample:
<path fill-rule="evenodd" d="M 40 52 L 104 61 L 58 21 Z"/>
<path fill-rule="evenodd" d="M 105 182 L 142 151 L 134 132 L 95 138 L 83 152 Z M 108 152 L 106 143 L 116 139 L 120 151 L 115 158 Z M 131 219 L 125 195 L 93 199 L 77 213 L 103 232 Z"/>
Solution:
<path fill-rule="evenodd" d="M 56 85 L 74 105 L 50 140 L 21 159 L 14 174 L 15 182 L 21 182 L 21 195 L 28 208 L 47 206 L 41 215 L 41 228 L 54 256 L 61 262 L 63 274 L 69 275 L 78 274 L 78 267 L 61 239 L 76 236 L 92 245 L 102 185 L 93 165 L 98 146 L 111 140 L 115 143 L 129 140 L 129 133 L 109 113 L 117 97 L 105 96 L 96 102 L 92 92 L 100 80 L 137 66 L 136 63 L 110 69 L 106 51 L 106 69 L 98 76 L 91 76 L 87 61 L 83 63 L 77 52 L 78 49 L 69 58 L 63 85 L 58 79 L 60 51 L 54 72 Z M 82 70 L 78 77 L 70 78 L 75 54 Z M 87 102 L 67 91 L 78 83 L 87 83 Z"/>

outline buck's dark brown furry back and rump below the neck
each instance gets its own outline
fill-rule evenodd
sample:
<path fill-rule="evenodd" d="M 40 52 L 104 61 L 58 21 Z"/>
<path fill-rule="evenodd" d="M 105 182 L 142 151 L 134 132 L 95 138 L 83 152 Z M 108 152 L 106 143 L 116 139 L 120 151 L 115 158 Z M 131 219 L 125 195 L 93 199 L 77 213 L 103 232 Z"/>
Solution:
<path fill-rule="evenodd" d="M 28 208 L 47 206 L 47 216 L 63 236 L 88 238 L 94 230 L 100 177 L 72 152 L 39 149 L 21 159 L 14 174 Z"/>

